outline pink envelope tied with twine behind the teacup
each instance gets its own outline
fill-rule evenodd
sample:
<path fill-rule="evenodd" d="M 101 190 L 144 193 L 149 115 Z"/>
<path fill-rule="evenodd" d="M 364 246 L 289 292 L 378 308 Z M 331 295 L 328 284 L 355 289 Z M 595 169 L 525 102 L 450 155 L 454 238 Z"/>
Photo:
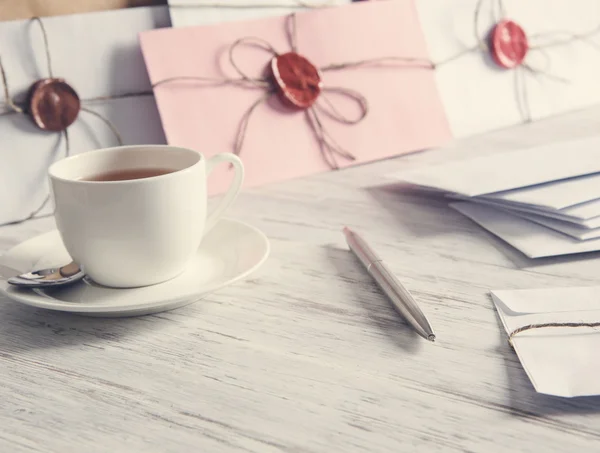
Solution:
<path fill-rule="evenodd" d="M 172 77 L 239 78 L 229 60 L 240 38 L 260 38 L 279 54 L 292 50 L 289 16 L 219 25 L 160 29 L 140 35 L 153 84 Z M 323 68 L 389 57 L 429 61 L 412 0 L 362 2 L 297 13 L 297 52 Z M 260 77 L 272 55 L 240 46 L 235 62 L 249 76 Z M 323 128 L 351 161 L 337 157 L 340 168 L 440 146 L 451 138 L 436 88 L 434 70 L 423 64 L 379 62 L 321 73 L 323 86 L 362 95 L 368 112 L 357 124 L 320 113 Z M 177 80 L 154 89 L 167 141 L 206 156 L 232 152 L 240 122 L 266 88 Z M 345 116 L 356 119 L 358 104 L 348 96 L 327 94 Z M 320 96 L 317 103 L 325 102 Z M 323 104 L 319 104 L 323 105 Z M 253 111 L 240 157 L 246 187 L 332 169 L 320 150 L 315 129 L 303 110 L 286 107 L 276 96 Z M 223 192 L 232 170 L 215 170 L 210 193 Z"/>

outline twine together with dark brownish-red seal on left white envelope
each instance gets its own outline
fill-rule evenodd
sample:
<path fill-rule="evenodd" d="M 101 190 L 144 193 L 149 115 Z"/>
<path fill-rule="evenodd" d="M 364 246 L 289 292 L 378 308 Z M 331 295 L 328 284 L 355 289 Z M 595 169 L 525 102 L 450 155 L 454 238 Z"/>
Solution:
<path fill-rule="evenodd" d="M 23 105 L 19 105 L 19 103 L 15 102 L 10 95 L 8 77 L 2 59 L 0 58 L 0 77 L 2 79 L 5 104 L 8 107 L 8 110 L 1 112 L 0 116 L 7 114 L 27 115 L 39 129 L 48 132 L 59 132 L 65 141 L 65 157 L 68 157 L 71 153 L 68 128 L 75 122 L 80 111 L 89 113 L 100 119 L 113 133 L 118 144 L 123 145 L 121 134 L 112 121 L 104 115 L 81 105 L 81 100 L 79 99 L 77 92 L 64 79 L 54 77 L 52 56 L 46 27 L 39 17 L 34 17 L 31 20 L 39 25 L 42 32 L 48 78 L 40 79 L 31 85 L 26 102 Z M 123 96 L 107 96 L 105 98 L 92 99 L 91 101 L 117 97 Z M 44 209 L 49 200 L 50 194 L 46 195 L 42 204 L 31 212 L 31 214 L 22 220 L 11 222 L 11 224 L 22 223 L 32 219 Z"/>

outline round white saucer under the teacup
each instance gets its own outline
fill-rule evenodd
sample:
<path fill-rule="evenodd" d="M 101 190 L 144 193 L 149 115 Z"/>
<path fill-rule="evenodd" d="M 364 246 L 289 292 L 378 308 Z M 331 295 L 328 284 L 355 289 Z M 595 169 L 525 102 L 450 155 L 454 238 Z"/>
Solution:
<path fill-rule="evenodd" d="M 52 231 L 17 245 L 0 258 L 0 295 L 34 307 L 87 316 L 145 315 L 187 305 L 240 280 L 268 255 L 269 241 L 261 231 L 234 220 L 221 220 L 204 238 L 188 268 L 165 283 L 131 289 L 107 288 L 87 280 L 44 290 L 9 285 L 6 278 L 17 273 L 71 261 L 58 231 Z"/>

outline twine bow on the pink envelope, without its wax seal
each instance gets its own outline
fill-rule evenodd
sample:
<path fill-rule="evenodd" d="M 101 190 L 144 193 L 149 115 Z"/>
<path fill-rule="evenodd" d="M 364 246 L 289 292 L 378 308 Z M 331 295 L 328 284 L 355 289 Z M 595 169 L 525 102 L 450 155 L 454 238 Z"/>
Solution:
<path fill-rule="evenodd" d="M 290 49 L 293 53 L 297 54 L 298 45 L 297 45 L 297 27 L 296 27 L 296 14 L 292 13 L 287 16 L 286 20 L 286 31 L 289 41 Z M 248 124 L 252 113 L 256 111 L 256 109 L 270 99 L 274 94 L 278 92 L 277 85 L 274 83 L 272 76 L 264 76 L 264 77 L 251 77 L 246 74 L 240 66 L 236 62 L 235 53 L 237 49 L 242 46 L 251 46 L 257 47 L 259 49 L 264 50 L 271 56 L 271 61 L 273 59 L 277 59 L 282 57 L 283 54 L 279 53 L 270 43 L 267 41 L 258 38 L 258 37 L 244 37 L 235 41 L 229 48 L 229 62 L 231 66 L 239 76 L 238 78 L 211 78 L 211 77 L 198 77 L 198 76 L 178 76 L 178 77 L 170 77 L 167 79 L 160 80 L 153 84 L 153 88 L 157 88 L 161 85 L 172 83 L 176 81 L 195 81 L 195 82 L 206 82 L 216 85 L 237 85 L 243 86 L 246 88 L 256 88 L 263 90 L 264 93 L 261 94 L 256 101 L 250 105 L 250 107 L 246 110 L 246 112 L 242 115 L 238 132 L 234 141 L 234 149 L 233 152 L 237 155 L 241 153 L 244 138 L 246 136 L 246 131 L 248 128 Z M 304 57 L 300 57 L 304 58 Z M 360 60 L 354 62 L 345 62 L 339 64 L 330 64 L 321 68 L 315 68 L 319 71 L 319 73 L 326 73 L 329 71 L 340 71 L 344 69 L 352 69 L 352 68 L 360 68 L 366 67 L 370 65 L 381 65 L 384 63 L 401 63 L 403 65 L 413 64 L 413 67 L 420 67 L 425 69 L 433 69 L 433 64 L 429 60 L 421 59 L 421 58 L 411 58 L 411 57 L 383 57 L 383 58 L 375 58 L 368 60 Z M 298 75 L 298 74 L 296 74 Z M 309 85 L 316 83 L 316 81 L 310 80 L 300 80 L 301 83 L 304 83 L 303 89 L 310 89 Z M 369 111 L 369 106 L 367 99 L 361 93 L 351 90 L 348 88 L 342 87 L 328 87 L 328 86 L 319 86 L 320 94 L 316 99 L 316 102 L 306 108 L 303 108 L 306 119 L 310 124 L 313 133 L 319 143 L 319 149 L 321 152 L 321 156 L 327 165 L 332 169 L 338 169 L 339 164 L 337 162 L 337 158 L 341 157 L 347 160 L 355 160 L 356 157 L 345 150 L 337 141 L 331 136 L 331 134 L 327 131 L 325 124 L 323 122 L 323 115 L 328 116 L 330 119 L 337 121 L 342 124 L 347 125 L 355 125 L 360 123 L 367 115 Z M 335 104 L 327 97 L 327 94 L 336 93 L 347 97 L 348 99 L 354 101 L 354 103 L 358 106 L 359 114 L 355 117 L 344 115 L 340 110 L 335 106 Z"/>

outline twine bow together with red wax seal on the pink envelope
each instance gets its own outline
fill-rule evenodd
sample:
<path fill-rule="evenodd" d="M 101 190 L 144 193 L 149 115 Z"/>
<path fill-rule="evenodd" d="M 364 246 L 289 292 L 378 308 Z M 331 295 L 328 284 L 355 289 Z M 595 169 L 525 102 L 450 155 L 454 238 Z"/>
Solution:
<path fill-rule="evenodd" d="M 248 107 L 241 117 L 233 144 L 233 152 L 236 155 L 239 155 L 242 151 L 252 114 L 260 105 L 276 95 L 285 107 L 304 112 L 319 144 L 323 160 L 331 169 L 335 170 L 340 167 L 338 158 L 353 161 L 356 157 L 344 149 L 328 132 L 324 117 L 341 124 L 355 125 L 367 116 L 369 105 L 366 97 L 358 91 L 324 85 L 322 74 L 329 71 L 381 66 L 386 63 L 400 64 L 404 68 L 414 67 L 433 70 L 433 64 L 429 60 L 396 56 L 335 63 L 318 68 L 298 53 L 295 13 L 286 16 L 286 34 L 291 51 L 285 53 L 278 52 L 269 42 L 259 37 L 248 36 L 236 40 L 229 47 L 228 56 L 229 62 L 238 77 L 176 76 L 159 80 L 152 86 L 156 89 L 164 84 L 187 81 L 209 83 L 217 86 L 236 85 L 263 90 L 264 93 Z M 270 55 L 270 65 L 266 76 L 253 77 L 242 70 L 235 56 L 236 51 L 242 45 L 261 49 Z M 334 94 L 352 101 L 358 107 L 358 113 L 354 116 L 342 113 L 328 96 Z"/>

